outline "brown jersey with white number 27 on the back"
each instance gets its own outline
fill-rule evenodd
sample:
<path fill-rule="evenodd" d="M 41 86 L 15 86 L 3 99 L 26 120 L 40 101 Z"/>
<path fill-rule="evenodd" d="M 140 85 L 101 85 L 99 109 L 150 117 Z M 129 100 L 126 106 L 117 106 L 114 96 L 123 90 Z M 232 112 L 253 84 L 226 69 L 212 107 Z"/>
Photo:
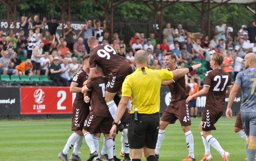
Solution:
<path fill-rule="evenodd" d="M 231 78 L 227 72 L 222 69 L 214 69 L 206 72 L 203 86 L 208 86 L 210 89 L 206 94 L 205 109 L 211 111 L 223 111 L 226 89 L 232 86 Z"/>

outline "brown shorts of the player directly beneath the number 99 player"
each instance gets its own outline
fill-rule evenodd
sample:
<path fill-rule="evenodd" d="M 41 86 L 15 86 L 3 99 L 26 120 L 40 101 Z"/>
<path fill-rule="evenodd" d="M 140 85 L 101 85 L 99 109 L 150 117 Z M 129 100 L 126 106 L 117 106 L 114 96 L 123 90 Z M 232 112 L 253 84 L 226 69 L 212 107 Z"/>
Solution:
<path fill-rule="evenodd" d="M 89 114 L 84 121 L 84 130 L 95 133 L 109 134 L 112 128 L 112 117 L 101 117 Z"/>

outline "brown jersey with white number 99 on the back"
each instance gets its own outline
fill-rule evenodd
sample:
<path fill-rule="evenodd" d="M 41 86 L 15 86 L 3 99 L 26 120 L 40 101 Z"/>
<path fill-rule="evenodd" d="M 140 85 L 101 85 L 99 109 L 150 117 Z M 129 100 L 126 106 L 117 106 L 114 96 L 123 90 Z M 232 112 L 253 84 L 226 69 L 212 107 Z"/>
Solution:
<path fill-rule="evenodd" d="M 96 64 L 108 73 L 117 76 L 126 69 L 130 68 L 130 64 L 123 57 L 119 56 L 117 52 L 110 45 L 96 46 L 89 59 L 90 68 L 96 68 Z"/>

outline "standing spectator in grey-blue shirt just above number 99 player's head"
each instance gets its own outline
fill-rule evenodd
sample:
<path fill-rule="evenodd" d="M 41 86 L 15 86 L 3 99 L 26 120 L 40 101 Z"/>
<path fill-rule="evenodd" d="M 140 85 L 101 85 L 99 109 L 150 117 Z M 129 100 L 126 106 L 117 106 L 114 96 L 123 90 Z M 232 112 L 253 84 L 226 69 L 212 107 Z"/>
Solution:
<path fill-rule="evenodd" d="M 94 31 L 94 28 L 92 27 L 92 21 L 91 20 L 88 20 L 85 19 L 85 22 L 86 22 L 86 25 L 84 25 L 84 27 L 82 28 L 82 30 L 79 32 L 79 34 L 77 35 L 77 37 L 80 36 L 80 34 L 83 32 L 83 38 L 84 38 L 84 45 L 85 45 L 85 48 L 87 50 L 87 53 L 90 54 L 90 47 L 88 46 L 88 38 L 93 36 L 93 31 Z"/>

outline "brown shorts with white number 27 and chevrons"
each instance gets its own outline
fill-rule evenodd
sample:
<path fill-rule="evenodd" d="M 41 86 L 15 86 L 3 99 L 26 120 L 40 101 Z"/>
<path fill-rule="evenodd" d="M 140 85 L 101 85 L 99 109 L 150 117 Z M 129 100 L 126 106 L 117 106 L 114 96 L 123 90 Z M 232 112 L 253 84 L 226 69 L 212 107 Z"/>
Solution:
<path fill-rule="evenodd" d="M 214 124 L 218 121 L 222 114 L 223 111 L 209 111 L 204 109 L 201 121 L 203 131 L 216 130 Z"/>

